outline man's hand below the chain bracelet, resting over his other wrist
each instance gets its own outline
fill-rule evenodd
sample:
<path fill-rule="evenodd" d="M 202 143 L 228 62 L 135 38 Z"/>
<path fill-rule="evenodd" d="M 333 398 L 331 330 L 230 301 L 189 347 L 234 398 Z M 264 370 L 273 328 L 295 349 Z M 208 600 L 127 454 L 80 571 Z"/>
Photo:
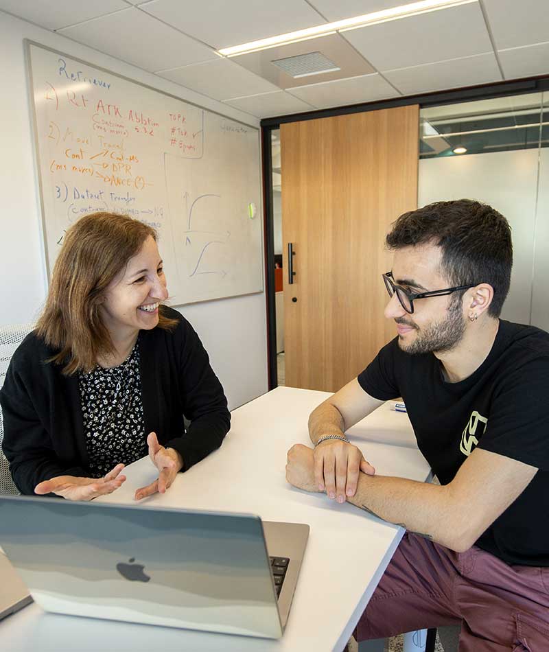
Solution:
<path fill-rule="evenodd" d="M 317 491 L 326 491 L 329 498 L 345 502 L 354 496 L 360 471 L 375 475 L 374 467 L 366 462 L 360 449 L 340 439 L 327 439 L 313 452 L 314 478 Z"/>

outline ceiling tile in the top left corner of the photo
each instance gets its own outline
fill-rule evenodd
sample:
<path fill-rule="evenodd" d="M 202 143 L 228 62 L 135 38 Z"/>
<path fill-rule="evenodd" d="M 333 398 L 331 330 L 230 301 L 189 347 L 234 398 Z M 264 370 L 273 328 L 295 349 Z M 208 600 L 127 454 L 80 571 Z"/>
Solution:
<path fill-rule="evenodd" d="M 74 0 L 0 0 L 0 10 L 19 16 L 47 30 L 81 23 L 119 9 L 127 8 L 124 0 L 93 0 L 91 3 Z"/>

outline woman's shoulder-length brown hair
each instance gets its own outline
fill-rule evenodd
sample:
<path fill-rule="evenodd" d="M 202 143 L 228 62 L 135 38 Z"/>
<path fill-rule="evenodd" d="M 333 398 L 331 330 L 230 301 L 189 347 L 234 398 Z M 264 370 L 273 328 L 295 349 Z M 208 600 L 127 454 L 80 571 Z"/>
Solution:
<path fill-rule="evenodd" d="M 90 213 L 67 231 L 36 325 L 38 337 L 58 350 L 49 361 L 63 364 L 65 375 L 90 371 L 114 353 L 100 315 L 104 292 L 148 237 L 156 240 L 156 231 L 117 213 Z M 176 323 L 159 310 L 160 328 Z"/>

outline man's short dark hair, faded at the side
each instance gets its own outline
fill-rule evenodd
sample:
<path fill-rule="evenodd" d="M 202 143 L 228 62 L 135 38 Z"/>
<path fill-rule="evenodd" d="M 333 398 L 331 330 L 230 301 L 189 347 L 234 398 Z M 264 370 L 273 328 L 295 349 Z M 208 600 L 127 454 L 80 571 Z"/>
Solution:
<path fill-rule="evenodd" d="M 441 248 L 441 272 L 452 286 L 492 286 L 488 314 L 500 316 L 513 267 L 511 226 L 504 216 L 470 199 L 434 202 L 401 215 L 386 237 L 390 249 L 428 243 Z"/>

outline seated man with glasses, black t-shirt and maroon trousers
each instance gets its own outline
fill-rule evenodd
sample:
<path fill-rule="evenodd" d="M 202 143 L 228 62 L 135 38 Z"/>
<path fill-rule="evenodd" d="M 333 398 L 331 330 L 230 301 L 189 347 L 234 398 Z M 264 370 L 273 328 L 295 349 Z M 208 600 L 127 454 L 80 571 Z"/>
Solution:
<path fill-rule="evenodd" d="M 463 652 L 549 650 L 549 334 L 499 318 L 509 224 L 436 202 L 400 216 L 386 244 L 397 337 L 312 412 L 314 449 L 292 447 L 286 477 L 406 528 L 358 640 L 462 623 Z M 377 476 L 345 436 L 398 397 L 441 485 Z"/>

